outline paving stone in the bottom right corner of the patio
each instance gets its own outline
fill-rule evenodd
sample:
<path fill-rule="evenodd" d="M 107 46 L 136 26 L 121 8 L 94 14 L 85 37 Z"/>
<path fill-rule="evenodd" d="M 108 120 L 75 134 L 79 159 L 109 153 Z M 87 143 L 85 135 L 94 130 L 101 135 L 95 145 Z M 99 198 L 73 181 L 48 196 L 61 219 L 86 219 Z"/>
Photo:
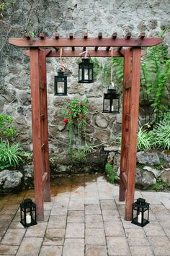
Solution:
<path fill-rule="evenodd" d="M 148 236 L 148 240 L 156 256 L 170 255 L 170 242 L 167 236 Z"/>

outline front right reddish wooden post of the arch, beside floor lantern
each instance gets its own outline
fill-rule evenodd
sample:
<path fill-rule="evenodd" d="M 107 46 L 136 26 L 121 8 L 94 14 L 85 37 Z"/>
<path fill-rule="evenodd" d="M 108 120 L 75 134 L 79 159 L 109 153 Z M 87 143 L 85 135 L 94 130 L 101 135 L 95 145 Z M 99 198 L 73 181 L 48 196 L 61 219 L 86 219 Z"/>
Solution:
<path fill-rule="evenodd" d="M 132 86 L 130 93 L 130 141 L 127 164 L 127 193 L 125 220 L 132 219 L 132 204 L 135 194 L 135 168 L 138 138 L 138 108 L 140 93 L 140 48 L 133 48 Z"/>

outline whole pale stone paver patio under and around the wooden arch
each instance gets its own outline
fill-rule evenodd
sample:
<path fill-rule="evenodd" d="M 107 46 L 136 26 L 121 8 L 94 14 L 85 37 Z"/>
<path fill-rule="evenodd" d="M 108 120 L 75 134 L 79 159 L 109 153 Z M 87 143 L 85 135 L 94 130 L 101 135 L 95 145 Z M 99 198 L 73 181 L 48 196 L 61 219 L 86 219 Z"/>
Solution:
<path fill-rule="evenodd" d="M 0 197 L 0 256 L 169 256 L 169 192 L 135 191 L 151 203 L 144 228 L 124 220 L 119 186 L 104 176 L 73 176 L 52 184 L 45 221 L 28 229 L 19 223 L 19 202 L 34 191 Z"/>

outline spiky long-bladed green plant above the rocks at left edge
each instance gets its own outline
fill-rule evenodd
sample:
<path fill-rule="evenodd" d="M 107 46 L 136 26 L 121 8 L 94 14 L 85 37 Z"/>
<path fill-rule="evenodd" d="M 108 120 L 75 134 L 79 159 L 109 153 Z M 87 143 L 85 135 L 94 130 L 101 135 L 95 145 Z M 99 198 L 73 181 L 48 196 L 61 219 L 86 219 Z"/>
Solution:
<path fill-rule="evenodd" d="M 0 141 L 0 170 L 18 166 L 23 162 L 24 150 L 19 143 L 9 144 L 8 140 Z"/>

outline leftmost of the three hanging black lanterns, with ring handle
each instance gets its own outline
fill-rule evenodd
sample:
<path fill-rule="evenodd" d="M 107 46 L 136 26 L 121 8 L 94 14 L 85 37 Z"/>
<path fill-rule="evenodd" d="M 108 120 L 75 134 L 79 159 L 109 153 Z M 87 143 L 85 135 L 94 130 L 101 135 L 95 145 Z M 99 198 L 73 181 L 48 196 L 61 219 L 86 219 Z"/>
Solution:
<path fill-rule="evenodd" d="M 54 95 L 67 95 L 67 76 L 65 75 L 65 67 L 57 68 L 58 74 L 54 77 Z"/>

